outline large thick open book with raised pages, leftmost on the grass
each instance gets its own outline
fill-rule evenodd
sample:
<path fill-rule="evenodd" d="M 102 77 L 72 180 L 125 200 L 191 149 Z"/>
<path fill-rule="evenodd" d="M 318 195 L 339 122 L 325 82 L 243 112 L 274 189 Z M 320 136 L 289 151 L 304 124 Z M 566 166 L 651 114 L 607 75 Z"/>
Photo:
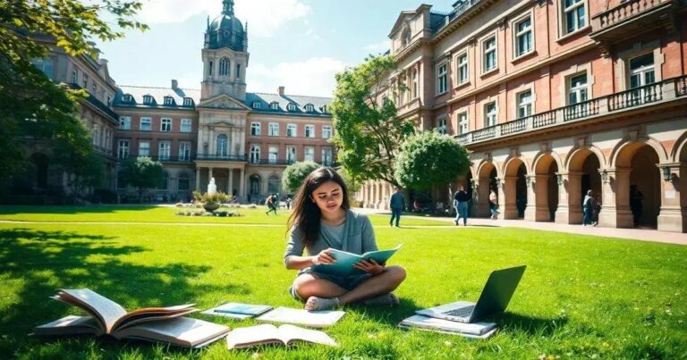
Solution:
<path fill-rule="evenodd" d="M 146 307 L 127 312 L 114 301 L 90 289 L 63 289 L 55 300 L 80 307 L 90 316 L 70 315 L 34 328 L 35 335 L 111 335 L 116 339 L 167 342 L 180 347 L 202 347 L 229 331 L 213 322 L 182 317 L 198 309 L 194 304 Z"/>

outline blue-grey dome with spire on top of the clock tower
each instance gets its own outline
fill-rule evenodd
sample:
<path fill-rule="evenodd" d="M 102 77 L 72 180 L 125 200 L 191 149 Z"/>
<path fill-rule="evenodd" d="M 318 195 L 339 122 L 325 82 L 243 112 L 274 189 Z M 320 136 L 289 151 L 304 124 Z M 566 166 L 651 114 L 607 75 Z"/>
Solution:
<path fill-rule="evenodd" d="M 229 47 L 234 51 L 247 50 L 247 34 L 240 20 L 233 14 L 233 0 L 223 0 L 222 14 L 208 21 L 205 46 L 211 49 Z"/>

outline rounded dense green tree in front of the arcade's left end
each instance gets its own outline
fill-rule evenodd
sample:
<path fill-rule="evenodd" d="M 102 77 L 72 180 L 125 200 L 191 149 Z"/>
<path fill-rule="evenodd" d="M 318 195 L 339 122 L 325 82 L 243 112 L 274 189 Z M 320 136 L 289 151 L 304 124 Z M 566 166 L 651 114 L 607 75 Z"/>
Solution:
<path fill-rule="evenodd" d="M 427 190 L 465 175 L 470 170 L 470 158 L 453 138 L 423 131 L 403 142 L 394 166 L 403 187 Z"/>

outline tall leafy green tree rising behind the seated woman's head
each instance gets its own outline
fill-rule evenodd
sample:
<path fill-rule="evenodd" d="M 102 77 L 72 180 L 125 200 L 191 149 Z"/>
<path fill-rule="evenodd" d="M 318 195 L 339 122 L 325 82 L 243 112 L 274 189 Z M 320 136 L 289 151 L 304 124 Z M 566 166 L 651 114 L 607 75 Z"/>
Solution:
<path fill-rule="evenodd" d="M 355 181 L 386 180 L 398 185 L 394 159 L 414 126 L 397 116 L 391 100 L 403 91 L 388 84 L 396 67 L 391 55 L 370 56 L 359 66 L 336 74 L 335 95 L 329 105 L 334 117 L 333 141 L 338 147 L 336 159 Z"/>

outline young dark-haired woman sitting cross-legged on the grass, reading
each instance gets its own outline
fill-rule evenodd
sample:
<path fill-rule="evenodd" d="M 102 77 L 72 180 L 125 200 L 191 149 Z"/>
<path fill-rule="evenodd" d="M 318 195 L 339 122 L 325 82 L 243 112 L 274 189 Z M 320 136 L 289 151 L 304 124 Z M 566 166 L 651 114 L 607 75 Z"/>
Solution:
<path fill-rule="evenodd" d="M 333 264 L 332 249 L 363 254 L 377 250 L 375 230 L 366 215 L 351 211 L 344 180 L 331 168 L 319 168 L 303 181 L 288 221 L 290 239 L 284 254 L 287 269 L 299 270 L 289 289 L 310 311 L 328 310 L 353 302 L 398 304 L 391 291 L 405 280 L 401 266 L 361 261 L 361 275 L 335 276 L 314 272 L 312 265 Z M 303 250 L 308 255 L 303 256 Z"/>

